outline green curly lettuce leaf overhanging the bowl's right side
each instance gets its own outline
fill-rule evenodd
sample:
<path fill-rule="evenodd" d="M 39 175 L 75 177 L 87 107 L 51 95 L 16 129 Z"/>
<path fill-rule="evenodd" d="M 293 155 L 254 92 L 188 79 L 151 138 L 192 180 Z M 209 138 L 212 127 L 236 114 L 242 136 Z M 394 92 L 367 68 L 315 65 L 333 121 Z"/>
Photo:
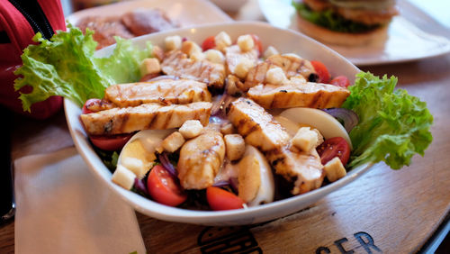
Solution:
<path fill-rule="evenodd" d="M 404 89 L 394 90 L 396 84 L 396 77 L 361 72 L 348 87 L 350 96 L 342 107 L 359 117 L 350 132 L 354 150 L 349 167 L 382 160 L 393 169 L 409 166 L 411 157 L 423 156 L 433 140 L 427 104 Z"/>

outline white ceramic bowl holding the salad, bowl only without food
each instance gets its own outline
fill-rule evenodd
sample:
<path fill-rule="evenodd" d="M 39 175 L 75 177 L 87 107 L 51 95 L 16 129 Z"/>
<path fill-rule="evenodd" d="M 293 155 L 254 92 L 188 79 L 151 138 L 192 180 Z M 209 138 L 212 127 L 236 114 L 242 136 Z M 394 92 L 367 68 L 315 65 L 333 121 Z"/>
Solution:
<path fill-rule="evenodd" d="M 144 35 L 135 38 L 133 41 L 140 47 L 145 45 L 145 41 L 152 41 L 154 44 L 161 45 L 166 36 L 178 34 L 201 43 L 206 37 L 221 31 L 228 32 L 232 39 L 236 39 L 241 34 L 256 33 L 261 38 L 264 47 L 273 45 L 282 53 L 293 52 L 305 59 L 318 59 L 329 67 L 332 76 L 346 75 L 352 82 L 355 79 L 356 73 L 359 71 L 347 59 L 344 59 L 338 53 L 319 42 L 313 41 L 299 32 L 275 28 L 266 23 L 226 23 L 199 26 L 191 29 Z M 99 50 L 97 51 L 97 56 L 107 56 L 112 52 L 112 49 L 113 46 Z M 79 120 L 81 109 L 66 99 L 65 111 L 68 128 L 75 142 L 76 149 L 83 159 L 85 159 L 86 164 L 94 176 L 100 179 L 104 187 L 109 188 L 114 194 L 119 195 L 125 202 L 139 211 L 139 213 L 144 213 L 163 221 L 222 226 L 267 222 L 306 208 L 317 202 L 321 197 L 354 181 L 356 177 L 360 177 L 372 166 L 364 165 L 354 168 L 346 177 L 328 186 L 322 186 L 307 194 L 297 195 L 271 204 L 220 212 L 185 210 L 169 207 L 164 204 L 157 204 L 141 195 L 137 195 L 113 184 L 111 181 L 112 173 L 103 165 L 102 160 L 95 154 L 89 141 L 87 141 L 85 131 Z"/>

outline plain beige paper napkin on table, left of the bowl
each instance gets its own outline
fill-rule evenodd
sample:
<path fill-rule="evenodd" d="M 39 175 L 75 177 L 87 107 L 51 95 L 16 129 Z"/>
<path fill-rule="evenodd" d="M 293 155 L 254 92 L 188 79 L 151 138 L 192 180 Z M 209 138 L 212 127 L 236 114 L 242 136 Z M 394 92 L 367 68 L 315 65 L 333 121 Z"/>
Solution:
<path fill-rule="evenodd" d="M 17 159 L 16 253 L 146 253 L 136 214 L 75 148 Z"/>

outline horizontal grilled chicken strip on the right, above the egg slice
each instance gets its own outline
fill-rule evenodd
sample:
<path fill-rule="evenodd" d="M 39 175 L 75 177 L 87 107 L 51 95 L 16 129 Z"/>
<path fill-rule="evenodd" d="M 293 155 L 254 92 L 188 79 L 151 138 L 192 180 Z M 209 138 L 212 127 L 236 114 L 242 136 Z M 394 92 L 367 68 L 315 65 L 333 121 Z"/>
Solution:
<path fill-rule="evenodd" d="M 340 107 L 350 91 L 347 88 L 314 82 L 288 80 L 285 85 L 258 85 L 247 95 L 264 108 Z"/>

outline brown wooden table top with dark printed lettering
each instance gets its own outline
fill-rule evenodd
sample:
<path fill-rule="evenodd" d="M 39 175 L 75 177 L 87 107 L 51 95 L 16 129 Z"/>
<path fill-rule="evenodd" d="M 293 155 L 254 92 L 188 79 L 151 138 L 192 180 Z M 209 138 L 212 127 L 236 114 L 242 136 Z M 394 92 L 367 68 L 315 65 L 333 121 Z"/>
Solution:
<path fill-rule="evenodd" d="M 236 19 L 263 20 L 257 1 Z M 427 24 L 422 28 L 433 30 Z M 434 141 L 410 167 L 381 164 L 299 213 L 274 222 L 213 228 L 137 214 L 148 252 L 212 253 L 229 244 L 246 253 L 408 253 L 420 249 L 450 209 L 450 55 L 365 67 L 399 77 L 400 88 L 428 103 Z M 14 117 L 13 157 L 73 145 L 63 113 L 45 122 Z M 347 251 L 347 252 L 346 252 Z M 0 252 L 14 252 L 14 222 L 0 228 Z"/>

